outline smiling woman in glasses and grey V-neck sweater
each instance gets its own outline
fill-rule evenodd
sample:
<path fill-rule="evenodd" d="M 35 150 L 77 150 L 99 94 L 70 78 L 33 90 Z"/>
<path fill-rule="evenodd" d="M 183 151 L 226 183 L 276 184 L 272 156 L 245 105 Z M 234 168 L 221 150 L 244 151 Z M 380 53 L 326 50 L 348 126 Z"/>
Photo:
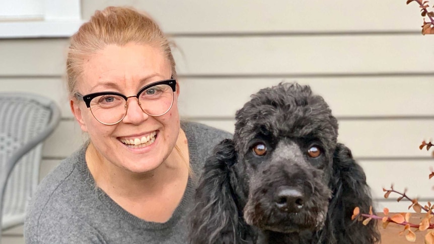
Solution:
<path fill-rule="evenodd" d="M 186 242 L 194 175 L 231 135 L 180 122 L 176 77 L 168 40 L 132 9 L 97 11 L 71 37 L 70 108 L 90 140 L 39 186 L 26 243 Z"/>

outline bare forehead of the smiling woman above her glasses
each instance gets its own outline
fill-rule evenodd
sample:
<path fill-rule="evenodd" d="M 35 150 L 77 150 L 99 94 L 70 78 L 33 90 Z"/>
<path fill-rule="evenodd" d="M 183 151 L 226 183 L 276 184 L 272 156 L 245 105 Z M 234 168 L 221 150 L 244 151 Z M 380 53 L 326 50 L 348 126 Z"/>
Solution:
<path fill-rule="evenodd" d="M 123 46 L 110 44 L 84 58 L 78 87 L 95 92 L 92 91 L 95 87 L 107 84 L 124 87 L 143 79 L 149 79 L 145 83 L 150 83 L 170 74 L 171 65 L 160 48 L 134 43 Z"/>

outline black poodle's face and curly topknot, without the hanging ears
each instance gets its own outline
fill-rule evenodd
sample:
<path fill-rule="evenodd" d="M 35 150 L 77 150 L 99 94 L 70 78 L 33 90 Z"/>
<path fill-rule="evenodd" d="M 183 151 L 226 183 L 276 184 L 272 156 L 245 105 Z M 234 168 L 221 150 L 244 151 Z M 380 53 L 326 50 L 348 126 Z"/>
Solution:
<path fill-rule="evenodd" d="M 319 230 L 332 191 L 338 123 L 308 86 L 260 90 L 236 114 L 239 167 L 247 177 L 244 218 L 275 232 Z"/>

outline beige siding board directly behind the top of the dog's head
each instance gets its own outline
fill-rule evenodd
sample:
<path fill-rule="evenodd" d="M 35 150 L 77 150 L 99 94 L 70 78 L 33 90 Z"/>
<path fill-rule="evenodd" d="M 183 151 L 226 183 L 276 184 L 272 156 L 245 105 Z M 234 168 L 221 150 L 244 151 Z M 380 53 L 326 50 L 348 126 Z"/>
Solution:
<path fill-rule="evenodd" d="M 434 91 L 432 76 L 181 77 L 179 110 L 187 118 L 234 118 L 251 94 L 282 81 L 310 85 L 338 118 L 434 116 L 434 106 L 428 105 Z M 66 84 L 60 77 L 0 77 L 0 92 L 32 92 L 49 97 L 57 102 L 63 118 L 72 118 Z"/>

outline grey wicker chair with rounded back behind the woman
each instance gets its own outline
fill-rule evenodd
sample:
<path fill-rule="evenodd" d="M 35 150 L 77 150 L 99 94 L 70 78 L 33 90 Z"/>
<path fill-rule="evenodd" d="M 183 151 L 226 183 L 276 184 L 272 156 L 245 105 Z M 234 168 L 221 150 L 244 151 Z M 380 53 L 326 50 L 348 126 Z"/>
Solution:
<path fill-rule="evenodd" d="M 0 93 L 0 238 L 2 229 L 24 223 L 38 185 L 42 142 L 59 121 L 59 108 L 50 99 Z"/>

